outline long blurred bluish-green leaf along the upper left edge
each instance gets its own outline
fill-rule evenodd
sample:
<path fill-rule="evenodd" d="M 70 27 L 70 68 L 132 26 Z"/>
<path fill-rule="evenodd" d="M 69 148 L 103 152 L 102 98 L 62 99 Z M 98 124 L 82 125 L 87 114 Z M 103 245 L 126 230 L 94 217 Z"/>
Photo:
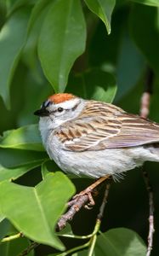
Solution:
<path fill-rule="evenodd" d="M 29 8 L 18 9 L 0 32 L 0 94 L 9 107 L 9 87 L 26 40 Z"/>

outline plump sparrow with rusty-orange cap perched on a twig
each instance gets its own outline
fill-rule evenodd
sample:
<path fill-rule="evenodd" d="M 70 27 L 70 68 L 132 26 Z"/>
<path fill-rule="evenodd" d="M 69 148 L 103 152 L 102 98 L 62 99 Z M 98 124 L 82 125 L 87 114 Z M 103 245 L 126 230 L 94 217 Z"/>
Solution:
<path fill-rule="evenodd" d="M 111 103 L 60 93 L 35 114 L 43 146 L 64 172 L 117 179 L 147 160 L 159 161 L 159 124 Z"/>

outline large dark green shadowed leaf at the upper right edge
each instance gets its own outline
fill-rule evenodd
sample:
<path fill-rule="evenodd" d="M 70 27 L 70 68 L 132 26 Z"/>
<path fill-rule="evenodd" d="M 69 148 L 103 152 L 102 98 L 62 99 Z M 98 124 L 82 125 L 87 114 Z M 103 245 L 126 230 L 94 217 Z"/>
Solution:
<path fill-rule="evenodd" d="M 147 19 L 149 17 L 149 19 Z M 130 30 L 135 44 L 158 76 L 159 12 L 157 8 L 134 4 L 130 13 Z M 146 42 L 146 43 L 145 43 Z"/>

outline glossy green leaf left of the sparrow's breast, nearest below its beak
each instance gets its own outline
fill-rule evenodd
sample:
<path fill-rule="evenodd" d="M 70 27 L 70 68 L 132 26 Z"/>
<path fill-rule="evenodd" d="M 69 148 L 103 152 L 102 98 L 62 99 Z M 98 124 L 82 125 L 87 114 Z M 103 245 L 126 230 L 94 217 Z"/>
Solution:
<path fill-rule="evenodd" d="M 16 130 L 5 131 L 3 137 L 0 137 L 0 148 L 44 151 L 37 125 L 26 125 Z"/>

